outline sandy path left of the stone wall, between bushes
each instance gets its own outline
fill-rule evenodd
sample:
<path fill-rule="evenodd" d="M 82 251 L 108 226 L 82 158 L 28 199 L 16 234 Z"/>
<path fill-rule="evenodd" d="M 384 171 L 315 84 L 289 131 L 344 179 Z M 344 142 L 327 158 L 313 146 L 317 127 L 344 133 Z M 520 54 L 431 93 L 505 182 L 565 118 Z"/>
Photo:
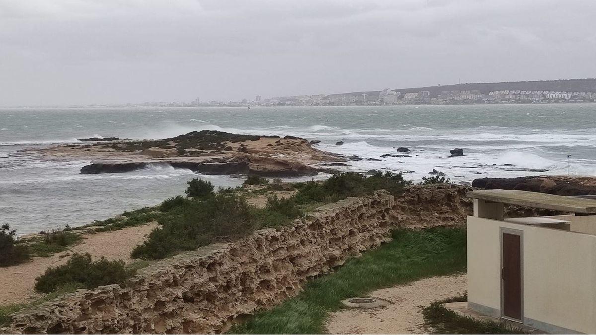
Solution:
<path fill-rule="evenodd" d="M 56 253 L 51 257 L 36 257 L 29 262 L 0 268 L 0 305 L 26 302 L 38 297 L 33 290 L 35 278 L 43 274 L 49 266 L 66 263 L 72 253 L 88 252 L 94 257 L 104 256 L 107 259 L 122 259 L 130 262 L 132 249 L 141 244 L 145 235 L 157 226 L 156 223 L 117 231 L 83 234 L 84 238 L 70 250 Z"/>

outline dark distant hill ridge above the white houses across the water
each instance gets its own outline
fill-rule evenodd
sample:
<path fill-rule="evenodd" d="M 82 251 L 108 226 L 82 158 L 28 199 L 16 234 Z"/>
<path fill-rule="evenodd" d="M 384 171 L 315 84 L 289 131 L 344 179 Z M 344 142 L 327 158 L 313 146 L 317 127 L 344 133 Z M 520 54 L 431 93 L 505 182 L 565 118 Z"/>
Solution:
<path fill-rule="evenodd" d="M 499 83 L 462 83 L 456 85 L 440 85 L 415 88 L 393 89 L 394 92 L 414 93 L 429 91 L 430 97 L 437 97 L 443 91 L 480 91 L 481 94 L 488 94 L 491 91 L 502 90 L 524 90 L 524 91 L 566 91 L 566 92 L 596 92 L 596 78 L 588 79 L 559 79 L 559 80 L 538 80 L 534 82 L 499 82 Z M 327 95 L 327 98 L 338 98 L 342 96 L 360 96 L 364 93 L 369 99 L 378 98 L 380 91 L 350 92 Z"/>

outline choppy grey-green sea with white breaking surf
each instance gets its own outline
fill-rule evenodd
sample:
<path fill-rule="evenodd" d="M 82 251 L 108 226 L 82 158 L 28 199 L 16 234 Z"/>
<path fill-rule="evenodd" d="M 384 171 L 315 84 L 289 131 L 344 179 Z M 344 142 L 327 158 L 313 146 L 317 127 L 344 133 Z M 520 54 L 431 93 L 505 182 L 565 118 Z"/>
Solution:
<path fill-rule="evenodd" d="M 5 108 L 0 109 L 0 224 L 10 224 L 19 235 L 75 227 L 183 194 L 192 178 L 218 187 L 243 182 L 164 166 L 82 175 L 88 161 L 21 152 L 77 138 L 158 139 L 212 129 L 319 139 L 321 150 L 363 159 L 401 154 L 396 148 L 406 147 L 411 157 L 349 162 L 345 170 L 404 172 L 417 182 L 435 169 L 465 183 L 483 177 L 594 175 L 595 120 L 596 104 Z M 449 157 L 454 148 L 462 148 L 464 156 Z"/>

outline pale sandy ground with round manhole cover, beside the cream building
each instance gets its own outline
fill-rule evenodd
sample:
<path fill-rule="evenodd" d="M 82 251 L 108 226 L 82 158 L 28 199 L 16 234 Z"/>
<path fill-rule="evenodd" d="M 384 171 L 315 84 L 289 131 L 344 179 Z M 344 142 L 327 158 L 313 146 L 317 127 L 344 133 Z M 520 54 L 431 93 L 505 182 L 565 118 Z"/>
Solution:
<path fill-rule="evenodd" d="M 454 297 L 466 290 L 463 275 L 432 277 L 403 286 L 373 291 L 368 297 L 384 299 L 384 308 L 342 309 L 331 313 L 327 330 L 331 334 L 426 334 L 421 313 L 423 306 Z"/>

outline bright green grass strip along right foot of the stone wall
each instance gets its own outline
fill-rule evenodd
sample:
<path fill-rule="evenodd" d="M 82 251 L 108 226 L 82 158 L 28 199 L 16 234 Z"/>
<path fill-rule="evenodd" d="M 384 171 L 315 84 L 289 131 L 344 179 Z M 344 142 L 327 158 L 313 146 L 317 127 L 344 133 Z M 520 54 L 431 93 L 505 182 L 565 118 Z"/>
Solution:
<path fill-rule="evenodd" d="M 333 274 L 309 281 L 298 296 L 257 312 L 229 333 L 324 333 L 325 318 L 342 308 L 341 300 L 424 277 L 465 271 L 465 250 L 465 230 L 461 228 L 400 229 L 393 232 L 393 241 L 349 260 Z"/>

